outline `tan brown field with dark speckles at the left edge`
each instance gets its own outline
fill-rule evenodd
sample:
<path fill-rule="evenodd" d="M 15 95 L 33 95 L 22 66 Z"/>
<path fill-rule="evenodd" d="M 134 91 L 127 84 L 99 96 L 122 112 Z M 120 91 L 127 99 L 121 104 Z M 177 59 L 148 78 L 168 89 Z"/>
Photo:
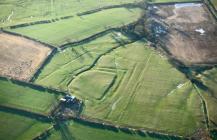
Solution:
<path fill-rule="evenodd" d="M 29 80 L 50 52 L 40 43 L 0 32 L 0 75 Z"/>

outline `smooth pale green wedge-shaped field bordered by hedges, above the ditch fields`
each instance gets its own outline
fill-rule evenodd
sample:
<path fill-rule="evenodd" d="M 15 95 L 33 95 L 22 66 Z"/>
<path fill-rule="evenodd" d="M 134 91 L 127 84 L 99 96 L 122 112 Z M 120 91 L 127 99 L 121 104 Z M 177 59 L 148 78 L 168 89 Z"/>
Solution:
<path fill-rule="evenodd" d="M 111 16 L 112 18 L 110 18 Z M 139 8 L 114 8 L 54 23 L 9 29 L 9 31 L 59 46 L 68 42 L 82 40 L 108 28 L 132 23 L 138 20 L 140 16 L 141 9 Z"/>

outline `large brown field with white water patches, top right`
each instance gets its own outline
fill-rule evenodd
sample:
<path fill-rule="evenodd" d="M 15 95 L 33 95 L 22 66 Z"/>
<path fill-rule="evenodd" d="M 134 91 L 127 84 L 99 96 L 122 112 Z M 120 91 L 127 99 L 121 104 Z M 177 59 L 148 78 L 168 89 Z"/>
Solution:
<path fill-rule="evenodd" d="M 176 6 L 155 6 L 151 12 L 167 32 L 157 36 L 164 49 L 186 65 L 217 63 L 217 24 L 207 8 L 202 4 Z"/>

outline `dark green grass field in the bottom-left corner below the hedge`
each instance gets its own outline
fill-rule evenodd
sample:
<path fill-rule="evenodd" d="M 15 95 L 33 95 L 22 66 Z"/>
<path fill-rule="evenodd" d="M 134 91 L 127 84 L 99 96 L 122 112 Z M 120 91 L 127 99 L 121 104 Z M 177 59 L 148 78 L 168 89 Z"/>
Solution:
<path fill-rule="evenodd" d="M 51 126 L 49 123 L 0 110 L 1 140 L 30 140 Z"/>

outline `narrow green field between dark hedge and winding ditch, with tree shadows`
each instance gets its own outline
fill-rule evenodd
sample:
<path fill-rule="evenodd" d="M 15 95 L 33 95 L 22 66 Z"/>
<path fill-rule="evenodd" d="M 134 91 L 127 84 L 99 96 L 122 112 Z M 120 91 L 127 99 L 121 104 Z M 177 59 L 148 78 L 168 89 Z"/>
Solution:
<path fill-rule="evenodd" d="M 126 36 L 113 32 L 83 45 L 68 46 L 54 55 L 35 83 L 67 90 L 74 76 L 90 68 L 100 56 L 125 41 L 128 41 Z"/>

